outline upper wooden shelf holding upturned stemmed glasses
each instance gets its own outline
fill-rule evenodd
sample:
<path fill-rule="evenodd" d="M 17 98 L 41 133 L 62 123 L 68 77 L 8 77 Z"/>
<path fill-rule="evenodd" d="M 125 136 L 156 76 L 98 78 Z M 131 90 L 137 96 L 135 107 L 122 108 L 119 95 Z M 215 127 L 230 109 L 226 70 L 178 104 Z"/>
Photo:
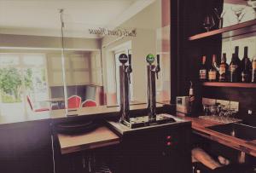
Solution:
<path fill-rule="evenodd" d="M 214 35 L 222 34 L 223 38 L 235 37 L 247 33 L 256 32 L 256 20 L 249 20 L 233 26 L 227 26 L 211 32 L 203 32 L 189 37 L 189 41 L 198 40 L 205 37 L 211 37 Z"/>

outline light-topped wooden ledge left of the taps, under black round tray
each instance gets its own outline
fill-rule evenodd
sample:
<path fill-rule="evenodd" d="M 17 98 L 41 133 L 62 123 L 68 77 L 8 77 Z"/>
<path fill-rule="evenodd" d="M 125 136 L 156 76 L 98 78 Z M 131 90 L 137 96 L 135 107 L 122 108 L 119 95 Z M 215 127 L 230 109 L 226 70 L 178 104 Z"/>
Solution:
<path fill-rule="evenodd" d="M 61 154 L 74 153 L 119 143 L 119 136 L 115 135 L 112 130 L 109 130 L 105 126 L 82 135 L 58 134 L 57 136 L 60 141 Z"/>

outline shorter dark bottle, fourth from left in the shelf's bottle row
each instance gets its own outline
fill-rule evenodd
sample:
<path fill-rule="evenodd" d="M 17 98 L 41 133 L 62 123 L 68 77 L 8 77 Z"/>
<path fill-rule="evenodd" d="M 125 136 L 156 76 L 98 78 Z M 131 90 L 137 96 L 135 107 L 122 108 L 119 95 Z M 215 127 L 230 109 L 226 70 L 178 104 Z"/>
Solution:
<path fill-rule="evenodd" d="M 232 59 L 230 62 L 230 82 L 237 83 L 239 82 L 240 72 L 239 72 L 239 63 L 240 61 L 237 60 L 236 54 L 232 54 Z"/>

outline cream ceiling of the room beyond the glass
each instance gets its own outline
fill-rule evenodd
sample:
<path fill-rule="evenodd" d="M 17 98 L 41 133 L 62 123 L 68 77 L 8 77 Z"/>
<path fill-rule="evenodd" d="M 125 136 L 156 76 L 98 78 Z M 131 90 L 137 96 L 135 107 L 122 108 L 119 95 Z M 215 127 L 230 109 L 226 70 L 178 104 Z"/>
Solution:
<path fill-rule="evenodd" d="M 66 37 L 96 37 L 89 28 L 116 27 L 154 0 L 0 0 L 0 33 L 60 36 L 64 9 Z"/>

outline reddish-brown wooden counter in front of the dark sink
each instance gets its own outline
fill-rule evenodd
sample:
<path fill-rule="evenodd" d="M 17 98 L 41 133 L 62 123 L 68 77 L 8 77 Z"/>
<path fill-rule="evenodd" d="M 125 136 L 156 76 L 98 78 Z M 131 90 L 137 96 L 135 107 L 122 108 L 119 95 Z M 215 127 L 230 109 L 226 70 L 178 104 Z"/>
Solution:
<path fill-rule="evenodd" d="M 219 133 L 214 130 L 207 129 L 207 127 L 221 124 L 211 120 L 181 116 L 178 116 L 178 118 L 183 118 L 184 120 L 191 121 L 192 130 L 195 134 L 206 137 L 207 139 L 210 139 L 212 141 L 217 141 L 224 146 L 235 148 L 237 150 L 240 150 L 241 152 L 248 153 L 256 157 L 256 140 L 246 141 L 233 136 L 224 135 L 223 133 Z"/>

